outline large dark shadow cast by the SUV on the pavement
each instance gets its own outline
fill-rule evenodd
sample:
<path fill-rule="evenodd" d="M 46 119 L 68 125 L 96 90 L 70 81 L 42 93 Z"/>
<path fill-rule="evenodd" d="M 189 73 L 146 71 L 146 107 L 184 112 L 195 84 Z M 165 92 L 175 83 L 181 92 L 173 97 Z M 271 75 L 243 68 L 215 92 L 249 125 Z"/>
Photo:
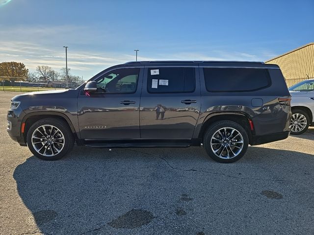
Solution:
<path fill-rule="evenodd" d="M 252 223 L 265 234 L 269 226 L 261 217 L 283 216 L 287 202 L 274 205 L 275 211 L 273 204 L 265 208 L 261 200 L 270 199 L 261 191 L 283 184 L 303 187 L 313 164 L 314 155 L 263 147 L 250 147 L 234 164 L 219 164 L 201 147 L 109 151 L 75 146 L 59 161 L 28 158 L 16 167 L 14 179 L 43 234 L 245 234 Z M 237 203 L 221 200 L 231 191 Z M 251 209 L 237 208 L 242 203 Z M 313 205 L 313 200 L 287 209 L 296 222 L 277 222 L 287 233 L 299 220 L 303 232 L 304 223 L 311 224 L 311 216 L 294 211 L 298 203 Z M 238 216 L 251 219 L 233 219 Z"/>

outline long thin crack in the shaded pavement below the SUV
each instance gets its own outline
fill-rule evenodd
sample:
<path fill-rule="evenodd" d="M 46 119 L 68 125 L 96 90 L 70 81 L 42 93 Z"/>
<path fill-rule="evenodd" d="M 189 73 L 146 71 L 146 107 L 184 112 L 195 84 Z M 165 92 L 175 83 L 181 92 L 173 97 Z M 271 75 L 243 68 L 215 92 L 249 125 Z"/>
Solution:
<path fill-rule="evenodd" d="M 137 153 L 143 153 L 149 156 L 153 156 L 156 158 L 159 158 L 161 160 L 163 160 L 172 170 L 181 170 L 181 171 L 196 171 L 196 172 L 203 172 L 203 173 L 208 173 L 208 174 L 216 174 L 216 175 L 223 175 L 226 177 L 230 177 L 230 178 L 235 178 L 235 179 L 240 179 L 240 180 L 261 180 L 261 181 L 279 181 L 279 182 L 288 182 L 287 180 L 276 180 L 276 179 L 259 179 L 259 178 L 244 178 L 244 177 L 237 177 L 237 176 L 233 176 L 233 175 L 228 175 L 225 173 L 219 173 L 219 172 L 213 172 L 213 171 L 206 171 L 206 170 L 197 170 L 197 169 L 182 169 L 182 168 L 178 168 L 178 167 L 174 167 L 172 166 L 166 159 L 164 159 L 163 157 L 160 157 L 158 155 L 155 154 L 150 154 L 150 153 L 145 153 L 145 152 L 141 152 L 141 151 L 137 151 L 137 150 L 131 150 L 131 149 L 127 149 L 129 151 L 132 152 L 137 152 Z"/>

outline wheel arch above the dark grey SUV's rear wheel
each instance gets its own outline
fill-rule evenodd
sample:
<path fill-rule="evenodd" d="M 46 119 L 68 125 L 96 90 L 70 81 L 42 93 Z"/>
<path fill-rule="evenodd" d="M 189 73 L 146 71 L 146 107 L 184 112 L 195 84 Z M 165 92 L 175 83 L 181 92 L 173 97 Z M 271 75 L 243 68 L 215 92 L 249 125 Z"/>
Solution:
<path fill-rule="evenodd" d="M 204 133 L 209 128 L 209 126 L 216 121 L 222 121 L 222 120 L 234 121 L 238 123 L 239 125 L 241 125 L 248 135 L 249 143 L 251 143 L 252 136 L 255 134 L 255 131 L 251 130 L 251 127 L 250 127 L 249 120 L 251 120 L 251 118 L 249 118 L 246 114 L 238 113 L 238 112 L 236 113 L 235 112 L 223 112 L 223 113 L 209 114 L 205 118 L 202 124 L 201 130 L 199 132 L 199 138 L 202 140 L 202 142 L 204 138 Z"/>

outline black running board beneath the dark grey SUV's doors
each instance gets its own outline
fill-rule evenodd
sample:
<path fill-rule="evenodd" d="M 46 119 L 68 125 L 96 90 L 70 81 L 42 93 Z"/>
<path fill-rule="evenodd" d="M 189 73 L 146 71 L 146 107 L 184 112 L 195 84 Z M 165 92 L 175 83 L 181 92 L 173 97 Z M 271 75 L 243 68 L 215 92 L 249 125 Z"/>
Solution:
<path fill-rule="evenodd" d="M 85 146 L 92 148 L 159 148 L 159 147 L 168 147 L 168 148 L 186 148 L 191 146 L 191 143 L 184 142 L 133 142 L 133 143 L 85 143 Z"/>

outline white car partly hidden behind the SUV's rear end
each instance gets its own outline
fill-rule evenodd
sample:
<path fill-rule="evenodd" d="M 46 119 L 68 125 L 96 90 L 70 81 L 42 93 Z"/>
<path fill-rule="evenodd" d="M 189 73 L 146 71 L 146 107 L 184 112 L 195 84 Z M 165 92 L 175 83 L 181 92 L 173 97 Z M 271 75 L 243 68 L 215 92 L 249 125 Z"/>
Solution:
<path fill-rule="evenodd" d="M 314 79 L 308 79 L 289 87 L 291 99 L 291 134 L 299 135 L 314 124 Z"/>

